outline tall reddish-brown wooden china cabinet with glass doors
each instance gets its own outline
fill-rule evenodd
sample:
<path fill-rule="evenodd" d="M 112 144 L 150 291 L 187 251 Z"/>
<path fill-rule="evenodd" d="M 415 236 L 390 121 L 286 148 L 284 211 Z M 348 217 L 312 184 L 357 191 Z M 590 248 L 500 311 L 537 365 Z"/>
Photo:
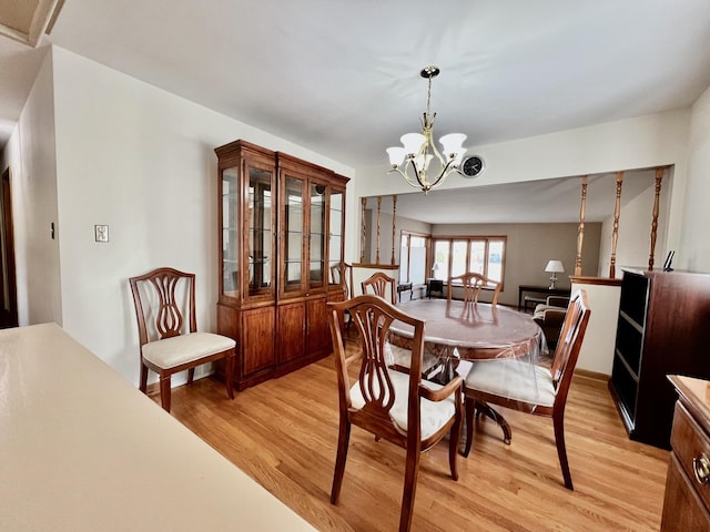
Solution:
<path fill-rule="evenodd" d="M 347 177 L 245 141 L 219 158 L 217 330 L 237 344 L 243 390 L 331 352 L 326 303 L 344 286 Z"/>

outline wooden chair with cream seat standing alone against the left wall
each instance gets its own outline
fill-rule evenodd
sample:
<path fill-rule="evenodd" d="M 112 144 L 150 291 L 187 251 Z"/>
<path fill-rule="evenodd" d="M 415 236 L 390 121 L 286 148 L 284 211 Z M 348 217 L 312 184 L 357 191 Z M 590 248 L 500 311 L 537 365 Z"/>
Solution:
<path fill-rule="evenodd" d="M 226 393 L 234 399 L 236 342 L 226 336 L 197 331 L 195 275 L 158 268 L 129 282 L 138 319 L 141 391 L 148 390 L 148 370 L 155 371 L 163 409 L 170 412 L 173 374 L 186 369 L 187 383 L 192 383 L 196 366 L 225 358 Z"/>

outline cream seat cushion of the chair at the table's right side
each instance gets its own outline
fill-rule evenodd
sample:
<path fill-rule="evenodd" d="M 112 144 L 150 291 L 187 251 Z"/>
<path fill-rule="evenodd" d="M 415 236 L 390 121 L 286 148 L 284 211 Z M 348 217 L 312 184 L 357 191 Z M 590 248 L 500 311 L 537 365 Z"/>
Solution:
<path fill-rule="evenodd" d="M 551 407 L 555 383 L 549 368 L 525 359 L 505 358 L 476 361 L 464 386 L 507 399 Z"/>

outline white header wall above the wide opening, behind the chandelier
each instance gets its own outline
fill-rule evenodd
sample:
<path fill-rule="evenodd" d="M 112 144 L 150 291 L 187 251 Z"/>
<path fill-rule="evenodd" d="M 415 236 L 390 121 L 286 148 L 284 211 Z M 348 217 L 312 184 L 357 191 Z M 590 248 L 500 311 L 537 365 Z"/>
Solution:
<path fill-rule="evenodd" d="M 684 109 L 498 144 L 469 146 L 468 153 L 479 154 L 486 161 L 486 172 L 476 180 L 453 176 L 442 188 L 674 165 L 669 191 L 671 206 L 667 237 L 667 247 L 674 248 L 682 228 L 689 120 L 690 112 Z M 400 177 L 386 175 L 386 170 L 384 163 L 382 166 L 357 168 L 355 195 L 359 198 L 409 191 Z M 348 243 L 356 245 L 358 241 L 349 239 Z"/>

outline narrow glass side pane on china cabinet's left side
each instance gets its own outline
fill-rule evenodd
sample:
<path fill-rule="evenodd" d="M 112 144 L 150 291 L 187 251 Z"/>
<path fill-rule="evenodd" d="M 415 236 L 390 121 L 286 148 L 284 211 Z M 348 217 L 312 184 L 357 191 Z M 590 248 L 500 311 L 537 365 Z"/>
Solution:
<path fill-rule="evenodd" d="M 239 297 L 239 167 L 222 171 L 222 295 Z"/>

